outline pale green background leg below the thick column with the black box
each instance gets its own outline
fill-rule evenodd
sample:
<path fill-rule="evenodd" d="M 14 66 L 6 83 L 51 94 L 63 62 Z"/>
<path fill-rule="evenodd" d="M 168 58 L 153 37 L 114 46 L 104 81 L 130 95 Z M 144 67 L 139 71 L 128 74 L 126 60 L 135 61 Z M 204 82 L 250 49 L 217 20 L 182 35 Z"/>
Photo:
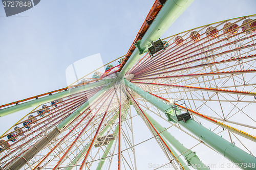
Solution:
<path fill-rule="evenodd" d="M 174 136 L 167 132 L 165 128 L 163 128 L 154 118 L 152 118 L 145 111 L 143 112 L 150 120 L 150 122 L 154 125 L 154 127 L 158 130 L 158 132 L 162 132 L 161 134 L 164 136 L 164 138 L 168 140 L 168 142 L 170 142 L 178 150 L 178 152 L 182 154 L 182 156 L 184 156 L 189 165 L 199 170 L 209 170 L 209 168 L 198 158 L 195 152 L 188 150 L 186 147 L 184 147 L 183 144 L 181 144 Z"/>

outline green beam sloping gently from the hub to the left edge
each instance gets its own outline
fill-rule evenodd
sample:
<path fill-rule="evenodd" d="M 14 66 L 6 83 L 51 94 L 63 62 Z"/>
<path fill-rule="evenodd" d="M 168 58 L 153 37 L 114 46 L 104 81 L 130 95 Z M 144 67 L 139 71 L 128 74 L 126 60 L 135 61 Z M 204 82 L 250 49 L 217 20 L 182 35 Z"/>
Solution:
<path fill-rule="evenodd" d="M 95 82 L 95 83 L 91 83 L 91 84 L 87 84 L 87 85 L 84 85 L 84 86 L 81 86 L 81 87 L 77 87 L 75 89 L 72 89 L 72 93 L 78 93 L 78 92 L 82 92 L 84 90 L 88 90 L 88 89 L 91 89 L 91 88 L 94 88 L 94 87 L 102 86 L 102 85 L 110 83 L 110 81 L 112 81 L 112 79 L 105 79 L 105 80 L 101 80 L 101 81 L 98 81 L 98 82 Z M 54 100 L 57 100 L 57 99 L 60 99 L 60 98 L 65 98 L 68 95 L 70 95 L 69 90 L 68 91 L 62 91 L 62 92 L 59 92 L 59 93 L 56 93 L 56 94 L 45 96 L 43 98 L 39 98 L 39 99 L 32 100 L 32 101 L 29 101 L 29 102 L 21 103 L 21 104 L 16 105 L 16 106 L 11 106 L 11 107 L 8 107 L 8 108 L 5 108 L 5 109 L 1 109 L 0 110 L 0 117 L 11 114 L 11 113 L 14 113 L 14 112 L 17 112 L 17 111 L 28 109 L 28 108 L 31 108 L 31 107 L 36 107 L 38 105 L 48 103 L 48 102 L 51 102 L 51 101 L 54 101 Z"/>

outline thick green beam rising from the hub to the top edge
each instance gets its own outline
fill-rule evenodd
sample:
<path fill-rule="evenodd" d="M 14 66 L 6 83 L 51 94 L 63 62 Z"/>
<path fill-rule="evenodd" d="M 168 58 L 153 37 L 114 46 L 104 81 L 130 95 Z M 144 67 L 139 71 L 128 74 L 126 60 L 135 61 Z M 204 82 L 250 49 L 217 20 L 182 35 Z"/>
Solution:
<path fill-rule="evenodd" d="M 174 21 L 193 3 L 194 0 L 167 0 L 162 9 L 157 14 L 155 20 L 151 23 L 150 28 L 141 39 L 138 47 L 135 48 L 133 54 L 126 62 L 118 77 L 123 75 L 141 58 L 141 52 L 147 50 L 152 41 L 156 41 L 160 36 L 174 23 Z"/>

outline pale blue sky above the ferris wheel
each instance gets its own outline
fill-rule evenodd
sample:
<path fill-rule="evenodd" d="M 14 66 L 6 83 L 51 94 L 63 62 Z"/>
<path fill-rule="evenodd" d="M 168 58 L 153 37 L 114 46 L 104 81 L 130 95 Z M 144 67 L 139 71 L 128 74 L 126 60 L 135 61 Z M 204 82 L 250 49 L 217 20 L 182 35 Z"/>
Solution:
<path fill-rule="evenodd" d="M 67 86 L 66 68 L 84 57 L 100 53 L 108 63 L 125 55 L 153 3 L 41 0 L 11 17 L 0 6 L 0 105 Z M 255 6 L 255 0 L 195 0 L 161 38 L 255 14 Z M 1 117 L 0 133 L 30 110 Z"/>

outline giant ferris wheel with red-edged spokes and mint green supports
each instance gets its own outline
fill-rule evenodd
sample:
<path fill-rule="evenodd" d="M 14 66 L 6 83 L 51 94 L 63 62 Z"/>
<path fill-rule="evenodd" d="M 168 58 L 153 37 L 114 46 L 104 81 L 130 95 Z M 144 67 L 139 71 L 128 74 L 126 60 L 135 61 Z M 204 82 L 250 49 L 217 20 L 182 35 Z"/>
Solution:
<path fill-rule="evenodd" d="M 156 1 L 104 72 L 0 106 L 33 107 L 0 137 L 0 169 L 255 169 L 256 15 L 159 39 L 190 3 Z"/>

